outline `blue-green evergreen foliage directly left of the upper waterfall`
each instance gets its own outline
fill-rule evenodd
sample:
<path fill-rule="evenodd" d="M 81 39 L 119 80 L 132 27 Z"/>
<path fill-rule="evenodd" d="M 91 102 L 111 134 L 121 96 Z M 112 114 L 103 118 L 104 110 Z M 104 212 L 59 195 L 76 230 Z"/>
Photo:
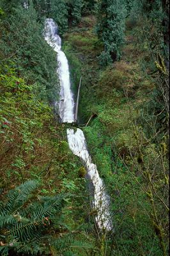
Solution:
<path fill-rule="evenodd" d="M 37 88 L 40 88 L 38 90 L 44 92 L 43 99 L 48 98 L 53 102 L 58 92 L 56 54 L 43 39 L 43 24 L 36 22 L 36 19 L 33 4 L 29 9 L 19 6 L 3 19 L 0 42 L 2 59 L 13 57 L 19 74 L 26 77 L 29 84 L 36 82 Z"/>

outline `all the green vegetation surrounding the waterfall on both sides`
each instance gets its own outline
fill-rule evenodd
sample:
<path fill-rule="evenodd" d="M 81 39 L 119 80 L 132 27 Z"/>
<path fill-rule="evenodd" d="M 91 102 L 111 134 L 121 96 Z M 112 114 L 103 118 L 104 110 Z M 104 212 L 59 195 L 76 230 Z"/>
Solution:
<path fill-rule="evenodd" d="M 166 0 L 0 1 L 1 255 L 169 254 L 168 13 Z M 75 96 L 82 77 L 79 125 L 111 196 L 111 234 L 94 225 L 86 172 L 55 118 L 45 17 Z"/>

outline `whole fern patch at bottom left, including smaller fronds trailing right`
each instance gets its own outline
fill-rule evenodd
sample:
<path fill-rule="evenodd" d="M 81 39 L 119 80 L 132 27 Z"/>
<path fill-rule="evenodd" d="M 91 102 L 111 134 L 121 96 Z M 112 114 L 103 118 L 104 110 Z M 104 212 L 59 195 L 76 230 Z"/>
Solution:
<path fill-rule="evenodd" d="M 80 230 L 72 232 L 62 222 L 68 195 L 33 197 L 38 186 L 36 180 L 27 180 L 0 202 L 0 255 L 50 255 L 52 246 L 59 255 L 73 256 L 92 248 L 77 239 Z"/>

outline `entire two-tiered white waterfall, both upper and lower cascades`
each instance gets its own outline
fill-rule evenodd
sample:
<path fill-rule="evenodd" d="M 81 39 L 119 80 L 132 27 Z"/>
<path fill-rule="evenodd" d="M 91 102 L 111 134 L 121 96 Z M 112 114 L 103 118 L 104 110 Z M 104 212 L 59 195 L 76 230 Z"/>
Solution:
<path fill-rule="evenodd" d="M 75 122 L 74 100 L 70 86 L 70 73 L 68 61 L 65 53 L 61 51 L 61 38 L 58 35 L 58 27 L 52 19 L 45 20 L 45 40 L 58 52 L 58 74 L 61 83 L 59 116 L 62 122 Z M 100 179 L 97 166 L 91 162 L 86 140 L 81 129 L 74 132 L 73 129 L 67 129 L 68 145 L 73 154 L 81 158 L 82 163 L 86 166 L 88 177 L 93 184 L 93 207 L 97 210 L 95 220 L 102 230 L 112 230 L 111 214 L 109 212 L 109 196 L 105 193 L 105 187 Z"/>

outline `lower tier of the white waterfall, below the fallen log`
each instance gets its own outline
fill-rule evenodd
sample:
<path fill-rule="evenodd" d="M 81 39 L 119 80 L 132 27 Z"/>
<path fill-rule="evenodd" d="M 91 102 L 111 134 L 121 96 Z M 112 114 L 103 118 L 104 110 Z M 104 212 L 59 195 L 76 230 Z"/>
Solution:
<path fill-rule="evenodd" d="M 109 196 L 105 193 L 103 180 L 100 179 L 97 171 L 96 164 L 91 162 L 91 157 L 86 146 L 86 139 L 81 129 L 77 129 L 74 133 L 73 129 L 67 129 L 68 145 L 73 154 L 79 156 L 82 163 L 85 164 L 88 172 L 88 177 L 93 183 L 93 207 L 97 210 L 98 214 L 96 221 L 98 227 L 101 229 L 112 229 L 111 214 L 109 212 Z"/>

